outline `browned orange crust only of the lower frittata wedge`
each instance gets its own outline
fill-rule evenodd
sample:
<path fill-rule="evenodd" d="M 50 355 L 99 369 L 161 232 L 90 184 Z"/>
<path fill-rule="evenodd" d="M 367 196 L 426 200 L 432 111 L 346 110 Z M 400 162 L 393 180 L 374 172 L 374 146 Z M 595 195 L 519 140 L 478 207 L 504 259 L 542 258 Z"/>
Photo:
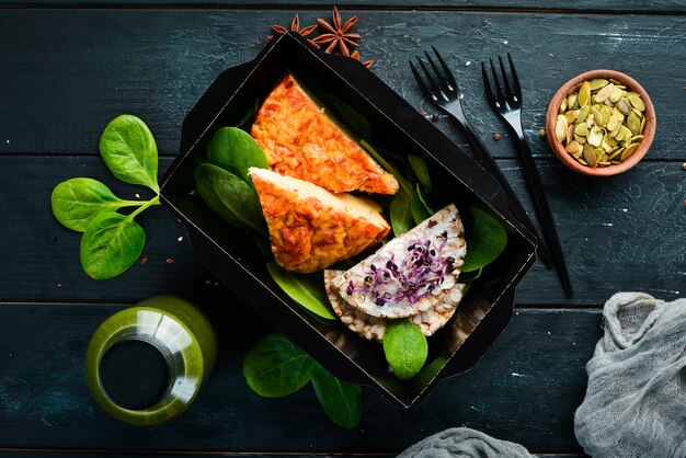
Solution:
<path fill-rule="evenodd" d="M 331 208 L 315 197 L 275 186 L 253 175 L 276 263 L 310 273 L 346 260 L 379 243 L 388 226 L 371 224 Z"/>

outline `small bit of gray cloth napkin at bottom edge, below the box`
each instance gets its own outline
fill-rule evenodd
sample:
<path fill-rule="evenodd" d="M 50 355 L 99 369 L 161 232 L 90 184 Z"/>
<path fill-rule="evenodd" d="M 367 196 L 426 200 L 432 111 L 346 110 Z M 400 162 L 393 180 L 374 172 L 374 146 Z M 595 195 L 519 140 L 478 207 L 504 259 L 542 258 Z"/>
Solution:
<path fill-rule="evenodd" d="M 398 458 L 535 458 L 518 444 L 494 439 L 468 427 L 454 427 L 428 436 Z"/>

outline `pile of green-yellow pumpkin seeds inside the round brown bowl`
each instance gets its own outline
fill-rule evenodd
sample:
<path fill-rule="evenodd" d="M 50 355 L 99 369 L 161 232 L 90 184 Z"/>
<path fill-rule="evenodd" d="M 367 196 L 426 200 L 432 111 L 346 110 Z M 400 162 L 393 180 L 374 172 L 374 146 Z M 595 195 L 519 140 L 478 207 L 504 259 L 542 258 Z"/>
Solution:
<path fill-rule="evenodd" d="M 554 134 L 580 163 L 595 169 L 618 164 L 643 139 L 645 104 L 615 79 L 597 78 L 570 89 L 562 100 Z"/>

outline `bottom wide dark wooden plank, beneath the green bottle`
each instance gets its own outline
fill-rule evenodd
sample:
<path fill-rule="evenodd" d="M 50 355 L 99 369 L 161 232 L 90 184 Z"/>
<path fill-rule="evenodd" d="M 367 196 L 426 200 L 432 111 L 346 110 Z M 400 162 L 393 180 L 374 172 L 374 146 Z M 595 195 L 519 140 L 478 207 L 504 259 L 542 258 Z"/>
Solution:
<path fill-rule="evenodd" d="M 324 417 L 310 387 L 284 399 L 250 391 L 241 358 L 268 327 L 249 308 L 236 307 L 206 308 L 221 354 L 215 375 L 183 416 L 146 428 L 108 417 L 85 386 L 83 354 L 100 322 L 121 308 L 0 306 L 0 447 L 398 453 L 465 425 L 531 451 L 581 451 L 572 420 L 585 391 L 585 363 L 601 335 L 601 313 L 594 309 L 517 310 L 471 371 L 442 381 L 409 410 L 366 389 L 363 422 L 346 431 Z"/>

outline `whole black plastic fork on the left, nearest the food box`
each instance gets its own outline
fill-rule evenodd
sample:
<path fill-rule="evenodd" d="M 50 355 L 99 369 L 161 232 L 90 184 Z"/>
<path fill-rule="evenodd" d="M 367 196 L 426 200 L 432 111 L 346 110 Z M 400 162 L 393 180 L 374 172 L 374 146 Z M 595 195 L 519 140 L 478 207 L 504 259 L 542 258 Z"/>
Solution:
<path fill-rule="evenodd" d="M 422 79 L 415 66 L 412 64 L 412 61 L 410 61 L 410 68 L 412 69 L 412 73 L 414 75 L 416 83 L 419 84 L 426 99 L 428 99 L 434 105 L 441 108 L 441 111 L 446 113 L 450 117 L 450 119 L 453 119 L 467 135 L 469 145 L 475 151 L 479 162 L 481 163 L 481 167 L 483 167 L 491 175 L 493 175 L 493 178 L 495 178 L 495 180 L 500 182 L 500 185 L 503 188 L 503 193 L 505 194 L 505 198 L 507 201 L 507 206 L 510 207 L 513 216 L 517 218 L 535 237 L 539 239 L 537 248 L 538 255 L 541 261 L 544 261 L 549 267 L 551 267 L 552 261 L 550 252 L 548 252 L 545 244 L 540 243 L 540 237 L 538 237 L 538 234 L 536 233 L 536 227 L 526 214 L 526 210 L 522 206 L 522 203 L 517 198 L 514 190 L 512 188 L 510 183 L 507 183 L 507 180 L 505 180 L 505 176 L 495 163 L 495 160 L 493 160 L 481 139 L 477 136 L 477 134 L 475 134 L 473 129 L 467 122 L 467 116 L 465 116 L 465 111 L 462 110 L 462 103 L 460 101 L 461 93 L 459 91 L 457 82 L 455 81 L 453 72 L 446 65 L 445 60 L 443 60 L 443 57 L 441 57 L 441 54 L 438 54 L 438 50 L 436 50 L 434 46 L 432 46 L 432 49 L 436 55 L 436 59 L 438 60 L 441 69 L 431 57 L 428 51 L 424 50 L 424 55 L 426 56 L 426 60 L 428 61 L 432 71 L 430 71 L 428 68 L 424 65 L 424 61 L 420 58 L 420 56 L 415 56 L 418 65 L 422 69 L 422 73 L 424 73 L 424 77 L 426 79 L 426 82 L 424 82 L 424 79 Z"/>

